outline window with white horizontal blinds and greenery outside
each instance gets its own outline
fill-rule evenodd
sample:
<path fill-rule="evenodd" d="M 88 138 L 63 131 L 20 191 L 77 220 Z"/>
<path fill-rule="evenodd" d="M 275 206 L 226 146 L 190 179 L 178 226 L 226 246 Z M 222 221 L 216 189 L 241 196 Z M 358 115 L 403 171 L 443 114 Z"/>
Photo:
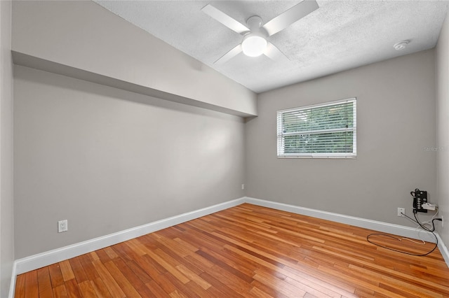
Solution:
<path fill-rule="evenodd" d="M 356 99 L 277 112 L 278 157 L 356 157 Z"/>

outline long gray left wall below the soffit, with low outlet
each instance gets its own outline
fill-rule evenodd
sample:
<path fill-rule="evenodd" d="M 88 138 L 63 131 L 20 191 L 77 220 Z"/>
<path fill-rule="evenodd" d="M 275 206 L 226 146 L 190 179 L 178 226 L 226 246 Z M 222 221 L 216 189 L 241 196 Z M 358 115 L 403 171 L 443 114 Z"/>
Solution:
<path fill-rule="evenodd" d="M 23 66 L 14 92 L 16 259 L 244 195 L 242 118 Z"/>

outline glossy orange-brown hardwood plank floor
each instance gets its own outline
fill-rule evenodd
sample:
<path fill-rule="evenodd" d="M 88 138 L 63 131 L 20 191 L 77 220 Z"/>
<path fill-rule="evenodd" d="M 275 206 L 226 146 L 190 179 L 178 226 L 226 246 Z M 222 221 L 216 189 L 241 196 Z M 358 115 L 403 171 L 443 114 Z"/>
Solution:
<path fill-rule="evenodd" d="M 371 233 L 243 204 L 21 274 L 15 297 L 449 297 L 438 249 Z"/>

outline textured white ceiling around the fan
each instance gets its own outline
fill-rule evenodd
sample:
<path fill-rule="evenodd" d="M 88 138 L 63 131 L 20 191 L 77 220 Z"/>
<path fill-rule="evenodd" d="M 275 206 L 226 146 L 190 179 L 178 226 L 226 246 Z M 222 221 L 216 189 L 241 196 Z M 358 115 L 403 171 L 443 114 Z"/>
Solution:
<path fill-rule="evenodd" d="M 318 10 L 268 38 L 290 61 L 241 53 L 216 65 L 242 36 L 203 13 L 203 6 L 211 3 L 246 24 L 252 15 L 267 22 L 300 1 L 94 1 L 257 93 L 434 48 L 449 4 L 318 0 Z M 406 39 L 405 50 L 394 50 Z"/>

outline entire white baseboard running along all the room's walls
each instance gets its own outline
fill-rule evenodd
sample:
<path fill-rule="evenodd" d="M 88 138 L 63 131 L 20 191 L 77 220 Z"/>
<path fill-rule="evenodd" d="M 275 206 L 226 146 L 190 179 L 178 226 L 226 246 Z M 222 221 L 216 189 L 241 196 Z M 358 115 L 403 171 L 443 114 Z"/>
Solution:
<path fill-rule="evenodd" d="M 29 257 L 24 257 L 22 259 L 16 260 L 13 265 L 13 276 L 11 278 L 11 288 L 9 298 L 14 297 L 15 290 L 15 277 L 17 274 L 22 274 L 27 271 L 34 269 L 39 269 L 41 267 L 60 262 L 62 260 L 67 260 L 72 257 L 83 255 L 85 253 L 90 253 L 93 250 L 98 250 L 105 248 L 107 246 L 112 246 L 116 243 L 127 241 L 145 234 L 156 232 L 160 229 L 165 229 L 166 227 L 171 227 L 173 225 L 178 225 L 182 222 L 187 222 L 189 220 L 194 220 L 195 218 L 200 218 L 211 213 L 225 210 L 234 206 L 238 206 L 243 203 L 254 204 L 257 206 L 264 206 L 268 208 L 273 208 L 276 210 L 287 211 L 291 213 L 297 213 L 301 215 L 307 215 L 314 218 L 321 218 L 323 220 L 330 220 L 333 222 L 340 222 L 347 225 L 353 225 L 355 227 L 363 227 L 366 229 L 373 229 L 378 232 L 384 232 L 389 234 L 395 234 L 404 237 L 410 237 L 415 239 L 422 239 L 428 242 L 435 242 L 434 237 L 429 232 L 424 232 L 422 230 L 417 230 L 413 227 L 406 227 L 402 225 L 389 224 L 387 222 L 379 222 L 376 220 L 367 220 L 365 218 L 356 218 L 354 216 L 342 215 L 338 213 L 331 213 L 327 211 L 320 211 L 311 208 L 304 208 L 300 206 L 288 205 L 283 203 L 277 203 L 274 201 L 266 201 L 262 199 L 255 199 L 251 197 L 242 197 L 240 199 L 234 199 L 232 201 L 227 201 L 222 204 L 217 204 L 214 206 L 209 206 L 196 211 L 183 213 L 181 215 L 176 215 L 171 218 L 166 218 L 163 220 L 158 220 L 156 222 L 150 222 L 147 225 L 141 225 L 139 227 L 133 227 L 131 229 L 126 229 L 121 232 L 116 232 L 114 234 L 109 234 L 106 236 L 98 237 L 88 241 L 83 241 L 80 243 L 75 243 L 70 246 L 65 246 L 63 248 L 58 248 L 55 250 L 50 250 L 45 253 L 39 253 L 37 255 L 32 255 Z M 449 251 L 441 237 L 436 233 L 438 239 L 438 248 L 443 255 L 446 264 L 449 267 Z"/>

